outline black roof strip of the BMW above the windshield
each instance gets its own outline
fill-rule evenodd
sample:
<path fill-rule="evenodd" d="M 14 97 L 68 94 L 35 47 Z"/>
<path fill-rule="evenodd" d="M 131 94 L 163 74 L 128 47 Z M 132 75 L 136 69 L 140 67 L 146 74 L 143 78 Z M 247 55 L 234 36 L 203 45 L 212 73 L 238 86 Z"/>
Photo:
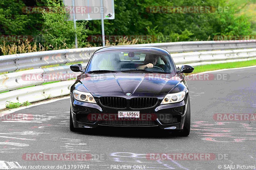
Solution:
<path fill-rule="evenodd" d="M 95 51 L 94 53 L 104 52 L 104 51 L 111 51 L 111 50 L 148 50 L 148 51 L 156 51 L 162 52 L 169 55 L 168 51 L 163 48 L 158 47 L 145 47 L 145 46 L 108 46 L 103 47 Z"/>

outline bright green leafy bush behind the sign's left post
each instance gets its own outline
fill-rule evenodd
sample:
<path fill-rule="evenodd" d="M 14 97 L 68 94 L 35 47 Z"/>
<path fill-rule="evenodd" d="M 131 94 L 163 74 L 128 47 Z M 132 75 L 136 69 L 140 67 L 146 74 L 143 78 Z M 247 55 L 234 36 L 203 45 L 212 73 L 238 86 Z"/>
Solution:
<path fill-rule="evenodd" d="M 77 22 L 75 30 L 73 21 L 68 21 L 68 15 L 65 8 L 61 7 L 63 6 L 61 2 L 47 0 L 46 6 L 49 6 L 49 11 L 44 10 L 42 13 L 44 24 L 41 32 L 45 41 L 53 45 L 66 43 L 68 48 L 74 48 L 76 33 L 79 46 L 84 46 L 87 37 L 87 29 L 85 28 L 87 22 Z"/>

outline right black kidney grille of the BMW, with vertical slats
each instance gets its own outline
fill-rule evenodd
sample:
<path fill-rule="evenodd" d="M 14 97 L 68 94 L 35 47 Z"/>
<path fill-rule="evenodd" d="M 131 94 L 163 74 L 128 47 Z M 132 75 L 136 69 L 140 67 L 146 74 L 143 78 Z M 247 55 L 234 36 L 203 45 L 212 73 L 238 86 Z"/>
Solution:
<path fill-rule="evenodd" d="M 136 97 L 130 100 L 130 107 L 133 109 L 153 107 L 156 106 L 157 101 L 157 98 Z"/>

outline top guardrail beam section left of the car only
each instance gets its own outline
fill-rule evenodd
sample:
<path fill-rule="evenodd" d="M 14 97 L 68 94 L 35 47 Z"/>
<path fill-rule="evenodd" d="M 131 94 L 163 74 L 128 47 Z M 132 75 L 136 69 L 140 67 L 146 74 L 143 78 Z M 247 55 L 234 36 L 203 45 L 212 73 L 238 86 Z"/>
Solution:
<path fill-rule="evenodd" d="M 0 56 L 0 72 L 88 61 L 101 47 L 62 49 Z"/>

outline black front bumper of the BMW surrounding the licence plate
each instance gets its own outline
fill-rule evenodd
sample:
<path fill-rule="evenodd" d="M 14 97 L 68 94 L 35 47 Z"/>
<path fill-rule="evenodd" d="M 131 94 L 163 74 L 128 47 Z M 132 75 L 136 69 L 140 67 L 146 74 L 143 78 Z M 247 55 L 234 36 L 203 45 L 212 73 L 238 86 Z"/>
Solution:
<path fill-rule="evenodd" d="M 152 127 L 160 129 L 183 129 L 188 94 L 179 103 L 160 105 L 159 99 L 155 107 L 144 109 L 118 109 L 97 104 L 77 101 L 70 94 L 71 114 L 75 128 L 96 128 L 98 126 Z M 140 111 L 140 118 L 118 118 L 118 111 Z"/>

